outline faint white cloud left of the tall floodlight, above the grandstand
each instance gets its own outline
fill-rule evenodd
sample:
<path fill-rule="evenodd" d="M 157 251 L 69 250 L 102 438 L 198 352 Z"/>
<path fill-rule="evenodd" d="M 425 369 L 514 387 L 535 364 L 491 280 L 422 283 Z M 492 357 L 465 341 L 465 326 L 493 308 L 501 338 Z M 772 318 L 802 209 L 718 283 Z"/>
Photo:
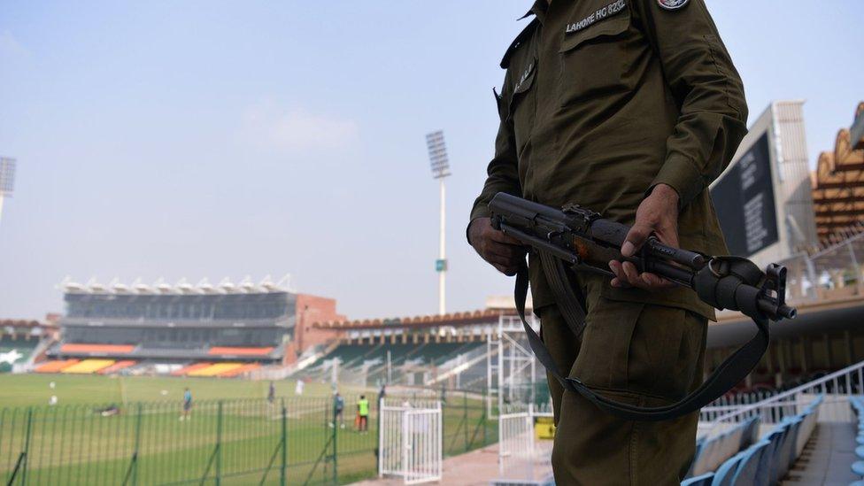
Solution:
<path fill-rule="evenodd" d="M 356 143 L 357 123 L 304 109 L 259 104 L 243 113 L 241 138 L 260 149 L 281 152 L 343 149 Z"/>

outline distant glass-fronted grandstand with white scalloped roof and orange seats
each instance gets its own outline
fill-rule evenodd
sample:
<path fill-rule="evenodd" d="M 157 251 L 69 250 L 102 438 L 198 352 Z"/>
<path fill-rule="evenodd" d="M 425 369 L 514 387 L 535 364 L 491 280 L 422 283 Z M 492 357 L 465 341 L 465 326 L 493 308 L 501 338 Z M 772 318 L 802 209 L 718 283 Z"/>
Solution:
<path fill-rule="evenodd" d="M 269 279 L 194 286 L 66 281 L 64 300 L 61 339 L 36 373 L 238 376 L 293 362 L 303 334 L 295 331 L 310 316 L 341 318 L 335 300 L 297 294 Z"/>

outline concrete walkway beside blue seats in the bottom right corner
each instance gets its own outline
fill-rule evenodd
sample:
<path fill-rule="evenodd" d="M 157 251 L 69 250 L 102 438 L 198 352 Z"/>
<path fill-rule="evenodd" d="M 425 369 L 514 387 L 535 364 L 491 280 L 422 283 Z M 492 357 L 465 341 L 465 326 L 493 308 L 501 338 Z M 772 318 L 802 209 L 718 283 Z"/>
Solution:
<path fill-rule="evenodd" d="M 850 468 L 852 462 L 858 460 L 856 445 L 854 423 L 816 424 L 810 442 L 786 475 L 783 485 L 847 486 L 859 480 Z"/>

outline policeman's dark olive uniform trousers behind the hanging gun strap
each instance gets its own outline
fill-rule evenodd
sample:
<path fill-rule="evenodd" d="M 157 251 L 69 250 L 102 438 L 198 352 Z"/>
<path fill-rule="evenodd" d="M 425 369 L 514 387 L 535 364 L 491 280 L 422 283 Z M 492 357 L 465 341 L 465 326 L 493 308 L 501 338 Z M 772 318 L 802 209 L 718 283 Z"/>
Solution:
<path fill-rule="evenodd" d="M 544 343 L 562 373 L 630 405 L 669 405 L 703 379 L 707 320 L 680 308 L 603 297 L 606 279 L 578 279 L 586 311 L 576 337 L 556 305 L 537 309 Z M 603 412 L 552 374 L 559 485 L 678 484 L 696 451 L 698 412 L 629 421 Z"/>

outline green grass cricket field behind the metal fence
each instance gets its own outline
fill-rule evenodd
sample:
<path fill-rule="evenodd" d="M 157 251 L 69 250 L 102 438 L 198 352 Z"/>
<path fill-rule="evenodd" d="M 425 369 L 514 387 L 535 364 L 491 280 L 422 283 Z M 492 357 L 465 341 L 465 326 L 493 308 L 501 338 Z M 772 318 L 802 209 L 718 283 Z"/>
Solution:
<path fill-rule="evenodd" d="M 289 484 L 332 483 L 334 469 L 337 483 L 374 476 L 377 410 L 367 433 L 353 430 L 353 404 L 360 393 L 374 398 L 374 390 L 340 390 L 346 398 L 345 428 L 334 428 L 328 384 L 308 383 L 304 396 L 295 397 L 293 380 L 275 382 L 274 404 L 265 399 L 267 385 L 235 379 L 2 374 L 0 480 L 9 481 L 27 451 L 16 484 L 23 483 L 22 473 L 27 484 L 215 483 L 217 474 L 224 484 L 262 479 L 278 484 L 283 427 Z M 187 386 L 195 405 L 191 419 L 180 420 Z M 58 405 L 47 405 L 51 395 Z M 119 405 L 120 414 L 98 413 L 104 404 Z M 485 420 L 484 411 L 479 397 L 448 394 L 445 454 L 496 440 L 497 424 Z"/>

